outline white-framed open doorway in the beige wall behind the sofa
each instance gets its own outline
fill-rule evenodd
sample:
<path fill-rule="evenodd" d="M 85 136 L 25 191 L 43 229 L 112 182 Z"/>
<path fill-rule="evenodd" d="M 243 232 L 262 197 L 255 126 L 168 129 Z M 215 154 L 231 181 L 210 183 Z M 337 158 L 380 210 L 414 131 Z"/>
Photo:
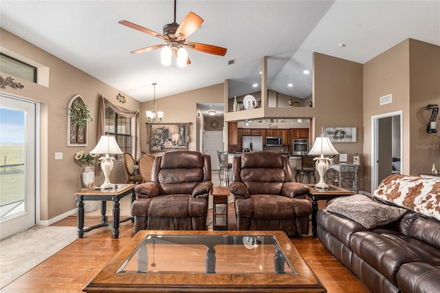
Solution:
<path fill-rule="evenodd" d="M 375 191 L 386 177 L 401 173 L 404 164 L 402 112 L 372 116 L 371 129 L 371 191 Z"/>

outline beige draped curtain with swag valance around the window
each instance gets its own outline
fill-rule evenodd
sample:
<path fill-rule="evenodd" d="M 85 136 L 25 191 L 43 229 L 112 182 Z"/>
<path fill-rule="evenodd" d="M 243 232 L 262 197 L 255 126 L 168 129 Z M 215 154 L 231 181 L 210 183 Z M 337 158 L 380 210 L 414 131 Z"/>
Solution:
<path fill-rule="evenodd" d="M 104 98 L 102 95 L 99 96 L 99 104 L 98 104 L 98 131 L 96 135 L 96 143 L 101 138 L 101 135 L 105 135 L 105 106 L 109 106 L 115 113 L 119 116 L 126 118 L 135 118 L 134 123 L 134 136 L 135 136 L 135 145 L 134 145 L 134 153 L 133 157 L 135 160 L 139 160 L 140 158 L 140 116 L 138 110 L 127 110 L 122 107 L 113 105 L 109 100 Z"/>

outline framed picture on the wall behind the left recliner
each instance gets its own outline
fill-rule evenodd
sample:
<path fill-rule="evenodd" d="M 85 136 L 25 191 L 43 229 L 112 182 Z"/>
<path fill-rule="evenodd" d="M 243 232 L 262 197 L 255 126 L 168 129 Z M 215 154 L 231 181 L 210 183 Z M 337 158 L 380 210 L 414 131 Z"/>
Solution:
<path fill-rule="evenodd" d="M 150 153 L 188 149 L 188 123 L 150 123 L 148 141 Z"/>

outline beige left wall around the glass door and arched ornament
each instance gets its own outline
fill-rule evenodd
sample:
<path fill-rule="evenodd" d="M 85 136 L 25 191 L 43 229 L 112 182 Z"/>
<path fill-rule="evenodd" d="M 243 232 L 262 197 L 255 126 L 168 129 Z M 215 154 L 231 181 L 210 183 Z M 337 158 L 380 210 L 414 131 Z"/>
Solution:
<path fill-rule="evenodd" d="M 90 151 L 96 145 L 98 94 L 118 103 L 115 96 L 121 93 L 127 99 L 122 105 L 126 109 L 140 109 L 140 102 L 3 29 L 1 46 L 50 68 L 49 87 L 14 77 L 15 81 L 24 85 L 23 89 L 1 89 L 1 92 L 41 103 L 40 220 L 48 221 L 76 208 L 74 193 L 81 188 L 80 173 L 83 168 L 76 164 L 74 155 L 77 151 Z M 10 75 L 1 72 L 1 76 Z M 88 145 L 68 147 L 66 107 L 75 94 L 83 97 L 94 121 L 89 123 Z M 63 153 L 63 160 L 54 160 L 55 152 Z M 111 182 L 125 181 L 123 164 L 115 164 Z M 102 174 L 96 176 L 96 184 L 102 182 Z"/>

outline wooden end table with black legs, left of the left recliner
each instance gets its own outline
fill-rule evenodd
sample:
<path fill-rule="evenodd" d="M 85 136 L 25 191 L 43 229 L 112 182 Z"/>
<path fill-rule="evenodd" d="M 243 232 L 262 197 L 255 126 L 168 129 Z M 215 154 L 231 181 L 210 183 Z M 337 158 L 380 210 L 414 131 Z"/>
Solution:
<path fill-rule="evenodd" d="M 106 189 L 105 191 L 100 191 L 100 188 L 91 188 L 85 191 L 80 191 L 75 193 L 76 202 L 78 202 L 76 210 L 76 224 L 78 226 L 78 237 L 83 238 L 85 232 L 90 230 L 100 228 L 103 226 L 111 227 L 111 234 L 114 239 L 119 237 L 119 224 L 131 219 L 134 223 L 133 217 L 126 217 L 120 220 L 120 207 L 119 201 L 122 197 L 131 194 L 131 204 L 135 200 L 135 184 L 115 184 L 114 189 Z M 101 224 L 84 228 L 84 201 L 85 200 L 98 200 L 101 201 Z M 113 202 L 113 224 L 107 221 L 107 216 L 105 215 L 107 210 L 107 201 Z"/>

